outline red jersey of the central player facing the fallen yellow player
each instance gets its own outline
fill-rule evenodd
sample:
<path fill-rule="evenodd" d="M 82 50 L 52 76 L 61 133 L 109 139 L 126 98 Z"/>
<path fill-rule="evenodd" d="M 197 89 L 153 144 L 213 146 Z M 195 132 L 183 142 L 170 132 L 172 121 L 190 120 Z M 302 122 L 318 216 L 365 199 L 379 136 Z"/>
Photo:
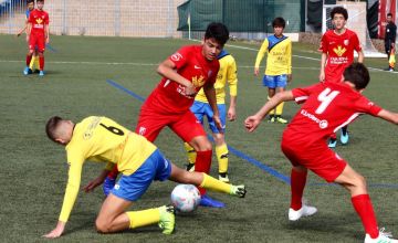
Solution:
<path fill-rule="evenodd" d="M 216 82 L 220 68 L 217 59 L 212 61 L 205 59 L 201 45 L 184 46 L 170 55 L 169 60 L 175 63 L 177 73 L 193 84 L 197 93 L 207 82 Z M 193 101 L 195 97 L 185 94 L 184 85 L 164 77 L 143 107 L 167 114 L 185 113 L 189 110 Z"/>

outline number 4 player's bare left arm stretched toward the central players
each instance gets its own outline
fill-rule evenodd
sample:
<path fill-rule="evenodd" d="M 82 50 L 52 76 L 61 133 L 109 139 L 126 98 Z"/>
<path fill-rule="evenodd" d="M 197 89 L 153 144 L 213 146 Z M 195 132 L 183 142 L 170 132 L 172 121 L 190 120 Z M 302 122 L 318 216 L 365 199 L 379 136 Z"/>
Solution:
<path fill-rule="evenodd" d="M 255 128 L 260 125 L 261 120 L 269 114 L 270 110 L 275 108 L 282 102 L 293 101 L 294 96 L 292 91 L 284 91 L 276 93 L 270 101 L 265 103 L 265 105 L 253 116 L 249 116 L 244 120 L 244 126 L 249 133 L 255 130 Z"/>

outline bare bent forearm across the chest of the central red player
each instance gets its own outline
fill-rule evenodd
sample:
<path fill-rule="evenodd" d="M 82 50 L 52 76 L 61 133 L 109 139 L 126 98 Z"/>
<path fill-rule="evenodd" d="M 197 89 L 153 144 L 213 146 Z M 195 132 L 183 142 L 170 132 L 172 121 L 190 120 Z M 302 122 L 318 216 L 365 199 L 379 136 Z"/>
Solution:
<path fill-rule="evenodd" d="M 176 64 L 167 59 L 163 63 L 159 64 L 159 66 L 157 67 L 156 71 L 161 76 L 164 76 L 170 81 L 175 81 L 175 82 L 179 83 L 180 85 L 184 85 L 186 87 L 186 89 L 185 89 L 186 95 L 195 95 L 196 89 L 195 89 L 193 84 L 191 82 L 189 82 L 187 78 L 185 78 L 184 76 L 179 75 L 175 68 L 176 68 Z"/>

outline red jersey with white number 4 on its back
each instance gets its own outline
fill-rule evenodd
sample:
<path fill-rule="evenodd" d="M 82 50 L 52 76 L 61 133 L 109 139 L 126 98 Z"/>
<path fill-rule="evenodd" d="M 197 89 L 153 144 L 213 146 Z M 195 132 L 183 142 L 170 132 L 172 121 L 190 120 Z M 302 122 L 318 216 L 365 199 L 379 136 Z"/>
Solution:
<path fill-rule="evenodd" d="M 377 116 L 381 110 L 346 83 L 322 82 L 294 88 L 292 93 L 296 103 L 305 103 L 289 124 L 285 135 L 303 141 L 303 146 L 325 142 L 332 134 L 359 115 Z"/>

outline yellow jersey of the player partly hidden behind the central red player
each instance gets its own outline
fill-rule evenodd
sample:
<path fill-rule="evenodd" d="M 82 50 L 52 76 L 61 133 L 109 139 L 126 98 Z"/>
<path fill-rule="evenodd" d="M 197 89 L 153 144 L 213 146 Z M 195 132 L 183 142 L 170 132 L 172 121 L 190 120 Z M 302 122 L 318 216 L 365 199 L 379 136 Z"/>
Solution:
<path fill-rule="evenodd" d="M 227 82 L 230 89 L 230 95 L 231 96 L 238 95 L 237 63 L 233 56 L 230 55 L 224 50 L 222 50 L 222 52 L 218 55 L 218 60 L 220 62 L 220 70 L 217 74 L 217 80 L 214 83 L 216 98 L 217 98 L 217 104 L 226 104 Z M 203 88 L 199 91 L 199 93 L 195 97 L 195 101 L 208 103 Z"/>

